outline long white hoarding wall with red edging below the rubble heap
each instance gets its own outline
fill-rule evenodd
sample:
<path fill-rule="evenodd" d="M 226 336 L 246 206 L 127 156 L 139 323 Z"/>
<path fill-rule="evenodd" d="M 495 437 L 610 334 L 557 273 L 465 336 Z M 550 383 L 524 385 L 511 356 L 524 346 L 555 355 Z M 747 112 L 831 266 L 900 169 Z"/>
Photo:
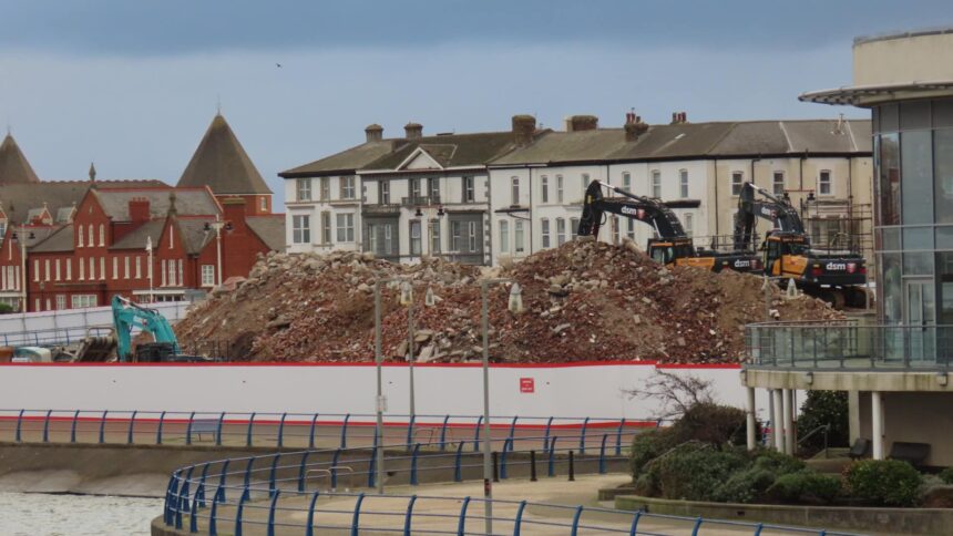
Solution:
<path fill-rule="evenodd" d="M 626 391 L 642 389 L 654 370 L 641 363 L 494 365 L 491 413 L 649 419 L 656 402 Z M 709 379 L 719 401 L 744 406 L 736 367 L 666 370 Z M 404 365 L 383 368 L 388 413 L 408 412 L 408 372 Z M 371 414 L 375 374 L 370 364 L 4 364 L 0 409 Z M 418 414 L 482 413 L 479 365 L 418 365 L 414 378 Z M 521 392 L 521 379 L 526 378 L 533 379 L 534 393 Z M 759 406 L 765 404 L 767 396 L 759 399 Z"/>

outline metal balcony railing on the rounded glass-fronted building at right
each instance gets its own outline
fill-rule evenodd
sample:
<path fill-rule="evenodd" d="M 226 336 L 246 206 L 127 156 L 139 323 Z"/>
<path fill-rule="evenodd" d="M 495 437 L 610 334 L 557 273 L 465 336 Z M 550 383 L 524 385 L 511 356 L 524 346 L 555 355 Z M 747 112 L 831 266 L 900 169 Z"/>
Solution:
<path fill-rule="evenodd" d="M 869 326 L 855 320 L 746 326 L 750 367 L 931 370 L 953 362 L 953 326 Z"/>

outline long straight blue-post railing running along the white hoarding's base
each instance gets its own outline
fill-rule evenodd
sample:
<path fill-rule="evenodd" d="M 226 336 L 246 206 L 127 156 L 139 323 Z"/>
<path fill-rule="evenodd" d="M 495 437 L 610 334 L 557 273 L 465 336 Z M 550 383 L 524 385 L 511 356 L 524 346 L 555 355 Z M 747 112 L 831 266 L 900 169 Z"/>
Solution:
<path fill-rule="evenodd" d="M 594 449 L 598 435 L 621 452 L 658 420 L 559 416 L 491 418 L 493 440 L 511 447 L 520 436 L 540 437 L 545 447 L 561 432 L 577 433 L 580 454 Z M 375 442 L 376 415 L 322 413 L 172 412 L 143 410 L 0 410 L 0 440 L 13 442 L 277 446 L 316 449 L 368 446 Z M 435 444 L 440 450 L 464 442 L 479 450 L 483 416 L 396 415 L 383 419 L 385 441 Z M 565 441 L 565 440 L 564 440 Z M 504 445 L 505 446 L 505 445 Z M 505 450 L 505 449 L 504 449 Z"/>

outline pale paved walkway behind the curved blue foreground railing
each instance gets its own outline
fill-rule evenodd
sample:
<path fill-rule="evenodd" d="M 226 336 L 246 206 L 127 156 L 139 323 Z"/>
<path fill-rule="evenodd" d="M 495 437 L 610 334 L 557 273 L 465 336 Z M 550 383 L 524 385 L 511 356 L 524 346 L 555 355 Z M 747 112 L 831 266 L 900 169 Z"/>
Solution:
<path fill-rule="evenodd" d="M 603 487 L 617 486 L 628 482 L 626 475 L 591 475 L 580 476 L 575 482 L 564 478 L 544 478 L 540 482 L 505 481 L 493 485 L 495 499 L 513 501 L 513 504 L 494 504 L 493 534 L 513 534 L 513 519 L 519 505 L 516 502 L 527 499 L 536 503 L 550 503 L 571 506 L 553 508 L 529 506 L 523 515 L 522 534 L 527 535 L 568 535 L 570 524 L 575 513 L 574 506 L 612 508 L 611 503 L 598 503 L 597 492 Z M 413 505 L 411 529 L 420 534 L 457 534 L 459 515 L 462 507 L 461 497 L 482 497 L 482 483 L 434 484 L 426 486 L 400 486 L 388 489 L 388 495 L 380 496 L 369 493 L 365 496 L 360 508 L 360 527 L 376 535 L 403 534 L 403 524 L 408 507 L 407 495 L 418 496 Z M 402 495 L 400 497 L 389 495 Z M 228 497 L 233 503 L 237 497 Z M 244 534 L 264 534 L 268 518 L 269 501 L 264 494 L 245 504 L 243 517 Z M 318 498 L 315 514 L 315 530 L 321 535 L 349 534 L 353 519 L 357 497 Z M 279 497 L 276 508 L 275 525 L 277 535 L 300 535 L 307 524 L 308 497 Z M 208 509 L 201 511 L 199 533 L 207 530 Z M 232 533 L 235 529 L 236 511 L 234 505 L 219 506 L 216 517 L 219 532 Z M 634 515 L 631 513 L 613 514 L 586 512 L 580 518 L 580 533 L 585 534 L 628 534 Z M 185 519 L 188 527 L 187 517 Z M 483 534 L 483 504 L 479 501 L 470 503 L 467 511 L 465 533 Z M 639 534 L 689 536 L 693 534 L 694 522 L 680 519 L 657 519 L 643 517 L 638 524 Z M 751 535 L 754 527 L 703 525 L 700 535 Z M 761 535 L 777 535 L 765 529 Z"/>

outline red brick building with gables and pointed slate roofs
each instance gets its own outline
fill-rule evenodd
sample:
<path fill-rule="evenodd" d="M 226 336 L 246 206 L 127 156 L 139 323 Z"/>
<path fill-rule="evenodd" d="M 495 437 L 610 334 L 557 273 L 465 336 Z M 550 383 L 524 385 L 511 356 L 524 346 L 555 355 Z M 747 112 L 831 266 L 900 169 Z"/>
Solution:
<path fill-rule="evenodd" d="M 28 311 L 103 306 L 116 295 L 187 299 L 284 249 L 284 215 L 270 214 L 270 190 L 221 115 L 176 187 L 98 182 L 93 168 L 89 182 L 23 181 L 19 147 L 0 152 L 0 173 L 8 168 L 0 301 L 18 309 L 24 300 Z"/>

